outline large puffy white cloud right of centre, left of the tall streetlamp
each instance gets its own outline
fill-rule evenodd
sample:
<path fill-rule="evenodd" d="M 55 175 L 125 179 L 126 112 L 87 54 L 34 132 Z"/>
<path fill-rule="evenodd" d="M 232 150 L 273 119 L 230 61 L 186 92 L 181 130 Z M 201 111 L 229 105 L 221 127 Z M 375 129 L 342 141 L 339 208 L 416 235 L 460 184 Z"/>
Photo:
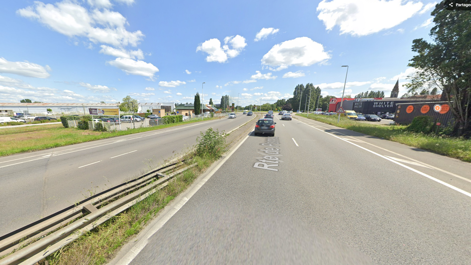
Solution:
<path fill-rule="evenodd" d="M 308 37 L 286 40 L 273 46 L 261 59 L 262 64 L 272 71 L 279 71 L 291 65 L 309 66 L 316 63 L 325 63 L 331 55 L 324 51 L 324 46 Z"/>

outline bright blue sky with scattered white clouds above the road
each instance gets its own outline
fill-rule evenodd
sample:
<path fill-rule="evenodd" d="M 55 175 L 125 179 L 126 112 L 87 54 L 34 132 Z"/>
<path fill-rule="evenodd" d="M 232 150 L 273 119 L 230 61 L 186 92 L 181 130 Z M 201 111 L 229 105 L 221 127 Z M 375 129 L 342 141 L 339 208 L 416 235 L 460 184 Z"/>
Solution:
<path fill-rule="evenodd" d="M 426 0 L 5 1 L 0 6 L 0 102 L 239 105 L 323 95 L 399 96 L 412 41 L 429 39 Z M 203 84 L 203 82 L 205 82 Z M 202 92 L 203 89 L 203 92 Z"/>

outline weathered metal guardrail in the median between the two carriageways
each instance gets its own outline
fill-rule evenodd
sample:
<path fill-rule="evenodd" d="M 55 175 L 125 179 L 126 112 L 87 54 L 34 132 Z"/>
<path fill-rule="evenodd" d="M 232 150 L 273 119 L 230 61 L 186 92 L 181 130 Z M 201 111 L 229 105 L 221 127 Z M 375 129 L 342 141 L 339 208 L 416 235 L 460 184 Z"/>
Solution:
<path fill-rule="evenodd" d="M 0 259 L 0 265 L 36 264 L 83 233 L 162 189 L 173 177 L 197 165 L 194 163 L 179 169 L 185 165 L 183 162 L 184 160 L 154 169 L 1 236 L 0 257 L 11 254 Z M 177 170 L 174 171 L 175 169 Z M 73 222 L 70 223 L 71 221 Z"/>

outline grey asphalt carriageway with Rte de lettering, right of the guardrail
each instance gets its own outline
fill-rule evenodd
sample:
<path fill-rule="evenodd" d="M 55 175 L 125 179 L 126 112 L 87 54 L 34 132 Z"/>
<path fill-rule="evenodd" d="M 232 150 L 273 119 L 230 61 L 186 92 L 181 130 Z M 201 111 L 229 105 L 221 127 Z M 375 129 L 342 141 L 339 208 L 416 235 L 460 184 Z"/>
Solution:
<path fill-rule="evenodd" d="M 276 122 L 275 137 L 250 133 L 130 264 L 470 264 L 469 163 Z"/>

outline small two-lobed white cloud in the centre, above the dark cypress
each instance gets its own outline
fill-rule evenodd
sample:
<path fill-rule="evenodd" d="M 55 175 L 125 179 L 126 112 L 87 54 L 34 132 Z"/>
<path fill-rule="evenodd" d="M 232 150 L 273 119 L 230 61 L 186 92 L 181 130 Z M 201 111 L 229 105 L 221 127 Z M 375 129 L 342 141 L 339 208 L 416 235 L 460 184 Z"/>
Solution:
<path fill-rule="evenodd" d="M 229 43 L 232 47 L 229 48 Z M 224 46 L 221 48 L 221 42 L 218 39 L 210 39 L 204 41 L 200 46 L 196 47 L 196 51 L 203 51 L 208 54 L 206 62 L 225 63 L 228 58 L 238 56 L 242 49 L 247 46 L 245 38 L 240 35 L 228 36 L 224 39 Z"/>

